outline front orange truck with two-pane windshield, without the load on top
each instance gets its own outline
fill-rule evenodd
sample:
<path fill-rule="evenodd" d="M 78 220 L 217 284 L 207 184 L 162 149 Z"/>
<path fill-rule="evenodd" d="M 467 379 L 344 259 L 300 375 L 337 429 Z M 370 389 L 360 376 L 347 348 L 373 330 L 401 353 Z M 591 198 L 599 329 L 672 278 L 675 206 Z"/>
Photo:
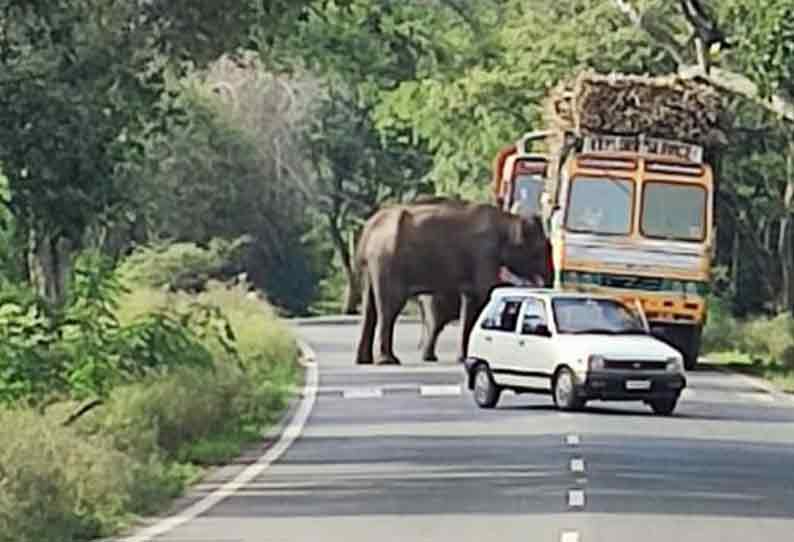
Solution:
<path fill-rule="evenodd" d="M 568 149 L 544 196 L 555 287 L 639 301 L 652 333 L 693 369 L 715 243 L 703 148 L 593 134 Z"/>

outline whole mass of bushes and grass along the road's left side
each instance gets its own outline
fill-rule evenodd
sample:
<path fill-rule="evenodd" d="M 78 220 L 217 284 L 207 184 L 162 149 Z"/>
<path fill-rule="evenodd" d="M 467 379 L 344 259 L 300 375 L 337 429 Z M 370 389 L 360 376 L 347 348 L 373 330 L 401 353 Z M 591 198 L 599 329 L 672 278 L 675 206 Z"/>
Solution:
<path fill-rule="evenodd" d="M 2 541 L 91 540 L 159 511 L 261 440 L 300 380 L 290 330 L 248 285 L 171 293 L 98 268 L 79 262 L 62 316 L 0 304 Z"/>

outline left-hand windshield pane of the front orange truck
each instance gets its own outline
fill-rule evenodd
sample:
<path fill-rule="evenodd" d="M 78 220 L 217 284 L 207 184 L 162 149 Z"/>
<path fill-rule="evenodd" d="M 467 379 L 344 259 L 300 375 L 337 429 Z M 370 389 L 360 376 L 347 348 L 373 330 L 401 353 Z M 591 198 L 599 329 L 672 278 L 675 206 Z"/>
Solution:
<path fill-rule="evenodd" d="M 631 231 L 634 182 L 607 177 L 576 177 L 571 185 L 566 229 L 627 235 Z"/>

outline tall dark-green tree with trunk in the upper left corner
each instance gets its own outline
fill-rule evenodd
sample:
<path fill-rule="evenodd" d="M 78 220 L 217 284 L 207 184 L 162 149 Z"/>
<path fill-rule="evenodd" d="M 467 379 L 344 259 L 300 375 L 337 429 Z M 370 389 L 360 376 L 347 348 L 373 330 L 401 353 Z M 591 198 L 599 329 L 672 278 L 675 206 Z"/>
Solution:
<path fill-rule="evenodd" d="M 130 164 L 175 114 L 169 73 L 269 43 L 307 5 L 3 2 L 0 162 L 9 207 L 28 240 L 28 275 L 41 294 L 62 303 L 86 230 L 129 203 Z"/>

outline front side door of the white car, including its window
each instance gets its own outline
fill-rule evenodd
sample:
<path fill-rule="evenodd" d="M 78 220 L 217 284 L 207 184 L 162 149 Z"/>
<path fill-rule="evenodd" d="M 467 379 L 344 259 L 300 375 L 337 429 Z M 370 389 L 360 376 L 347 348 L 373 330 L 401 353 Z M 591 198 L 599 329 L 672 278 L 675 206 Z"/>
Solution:
<path fill-rule="evenodd" d="M 521 325 L 514 334 L 511 369 L 522 374 L 530 387 L 551 387 L 556 359 L 549 331 L 549 311 L 546 302 L 538 297 L 528 297 L 521 309 Z"/>

